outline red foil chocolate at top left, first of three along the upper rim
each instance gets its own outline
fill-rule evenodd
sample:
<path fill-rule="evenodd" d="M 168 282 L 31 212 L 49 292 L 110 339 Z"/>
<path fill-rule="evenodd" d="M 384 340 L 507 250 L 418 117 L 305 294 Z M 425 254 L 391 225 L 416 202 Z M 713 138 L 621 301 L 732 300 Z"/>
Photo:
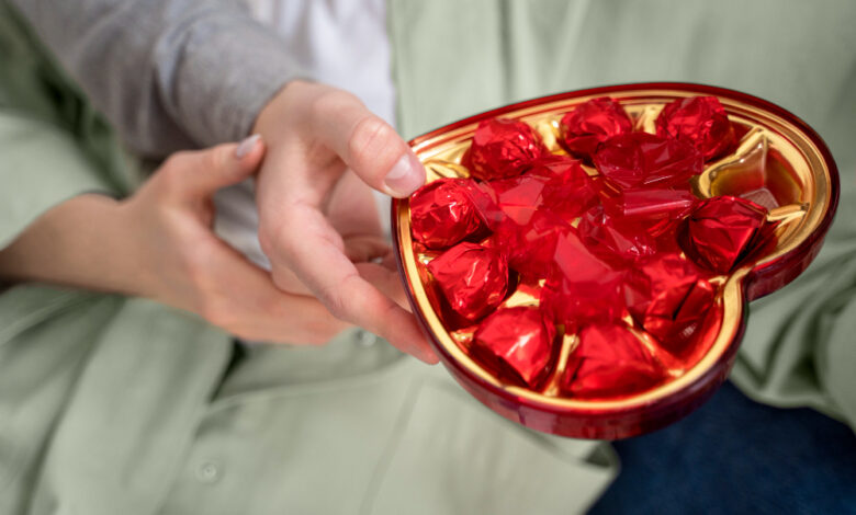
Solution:
<path fill-rule="evenodd" d="M 545 153 L 541 137 L 526 123 L 491 118 L 478 124 L 461 163 L 486 181 L 519 175 Z"/>

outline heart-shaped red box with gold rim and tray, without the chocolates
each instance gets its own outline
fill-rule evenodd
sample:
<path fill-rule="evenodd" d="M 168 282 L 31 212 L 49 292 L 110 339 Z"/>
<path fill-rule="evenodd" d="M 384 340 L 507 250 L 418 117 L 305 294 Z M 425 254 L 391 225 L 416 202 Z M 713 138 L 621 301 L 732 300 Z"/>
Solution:
<path fill-rule="evenodd" d="M 443 365 L 489 409 L 545 433 L 608 439 L 654 431 L 692 411 L 728 377 L 746 324 L 746 302 L 788 284 L 819 252 L 838 201 L 837 170 L 823 140 L 786 110 L 745 93 L 689 83 L 624 84 L 545 96 L 482 113 L 410 141 L 429 182 L 468 176 L 461 160 L 482 121 L 522 121 L 551 152 L 561 154 L 565 152 L 557 140 L 560 119 L 586 101 L 609 96 L 627 111 L 635 130 L 654 133 L 664 105 L 699 95 L 719 100 L 739 140 L 733 151 L 705 165 L 694 180 L 695 194 L 771 202 L 767 220 L 776 222 L 775 244 L 713 281 L 714 316 L 702 328 L 706 343 L 699 348 L 703 353 L 683 365 L 673 364 L 668 380 L 645 391 L 607 399 L 575 398 L 556 391 L 555 379 L 536 391 L 485 367 L 468 352 L 472 333 L 461 334 L 444 323 L 436 281 L 427 267 L 436 254 L 415 248 L 408 199 L 393 203 L 393 238 L 413 311 Z M 532 305 L 526 291 L 514 295 L 521 305 Z M 575 350 L 573 337 L 561 345 L 561 357 L 551 373 L 554 378 Z"/>

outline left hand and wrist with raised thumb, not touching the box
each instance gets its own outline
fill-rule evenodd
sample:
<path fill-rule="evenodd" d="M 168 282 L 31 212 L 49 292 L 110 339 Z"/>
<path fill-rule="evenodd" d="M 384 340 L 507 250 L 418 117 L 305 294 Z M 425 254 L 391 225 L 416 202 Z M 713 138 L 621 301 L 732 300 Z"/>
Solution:
<path fill-rule="evenodd" d="M 250 176 L 264 146 L 179 152 L 128 199 L 81 195 L 49 210 L 0 252 L 0 276 L 149 297 L 247 340 L 320 344 L 347 328 L 312 297 L 212 232 L 212 195 Z"/>

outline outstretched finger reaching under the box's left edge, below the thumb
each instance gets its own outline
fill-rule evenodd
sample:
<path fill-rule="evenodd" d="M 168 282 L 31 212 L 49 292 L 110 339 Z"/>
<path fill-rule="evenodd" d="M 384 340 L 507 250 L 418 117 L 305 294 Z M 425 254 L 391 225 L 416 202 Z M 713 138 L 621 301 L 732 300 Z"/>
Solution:
<path fill-rule="evenodd" d="M 308 206 L 293 205 L 288 209 L 286 219 L 302 224 L 296 229 L 283 226 L 285 233 L 280 241 L 301 244 L 286 244 L 280 248 L 279 255 L 285 256 L 285 265 L 304 279 L 327 309 L 336 318 L 356 323 L 426 363 L 436 363 L 413 314 L 360 276 L 342 253 L 339 234 L 322 214 Z M 274 266 L 274 281 L 277 270 Z"/>

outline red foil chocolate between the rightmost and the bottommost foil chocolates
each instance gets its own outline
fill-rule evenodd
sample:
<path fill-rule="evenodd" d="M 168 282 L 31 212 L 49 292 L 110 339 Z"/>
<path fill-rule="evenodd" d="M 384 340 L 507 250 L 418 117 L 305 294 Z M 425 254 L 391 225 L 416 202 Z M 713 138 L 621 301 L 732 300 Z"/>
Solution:
<path fill-rule="evenodd" d="M 629 273 L 624 286 L 633 318 L 674 355 L 684 355 L 713 306 L 716 290 L 678 253 L 656 256 Z"/>

